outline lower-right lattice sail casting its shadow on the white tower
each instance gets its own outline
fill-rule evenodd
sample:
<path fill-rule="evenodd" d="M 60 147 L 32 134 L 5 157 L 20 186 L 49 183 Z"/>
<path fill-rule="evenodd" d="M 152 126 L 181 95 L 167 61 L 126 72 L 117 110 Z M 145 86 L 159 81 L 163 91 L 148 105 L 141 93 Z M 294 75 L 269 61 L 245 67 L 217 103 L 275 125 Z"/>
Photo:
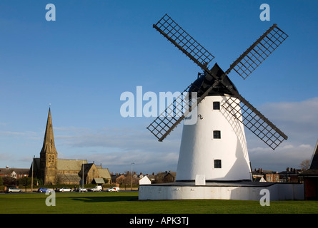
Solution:
<path fill-rule="evenodd" d="M 255 110 L 236 98 L 228 98 L 222 105 L 229 113 L 239 120 L 245 127 L 252 131 L 258 138 L 275 150 L 282 141 L 287 140 L 284 135 L 269 120 L 261 118 Z"/>

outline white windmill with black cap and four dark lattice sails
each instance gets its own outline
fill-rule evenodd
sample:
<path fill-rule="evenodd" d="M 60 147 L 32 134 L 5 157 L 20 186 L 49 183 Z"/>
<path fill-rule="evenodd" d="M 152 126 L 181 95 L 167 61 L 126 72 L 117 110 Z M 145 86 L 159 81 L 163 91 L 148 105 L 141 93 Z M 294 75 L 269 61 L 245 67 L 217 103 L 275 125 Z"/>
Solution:
<path fill-rule="evenodd" d="M 184 90 L 197 92 L 197 99 L 191 95 L 187 98 L 189 109 L 178 110 L 185 102 L 180 96 L 147 127 L 162 141 L 197 108 L 197 123 L 184 124 L 182 131 L 177 181 L 193 181 L 197 175 L 204 175 L 206 180 L 250 180 L 244 126 L 273 150 L 287 140 L 287 135 L 240 95 L 228 75 L 234 70 L 247 78 L 287 34 L 274 24 L 224 72 L 217 63 L 209 68 L 214 56 L 167 14 L 153 27 L 203 70 Z M 176 111 L 182 115 L 174 115 Z"/>

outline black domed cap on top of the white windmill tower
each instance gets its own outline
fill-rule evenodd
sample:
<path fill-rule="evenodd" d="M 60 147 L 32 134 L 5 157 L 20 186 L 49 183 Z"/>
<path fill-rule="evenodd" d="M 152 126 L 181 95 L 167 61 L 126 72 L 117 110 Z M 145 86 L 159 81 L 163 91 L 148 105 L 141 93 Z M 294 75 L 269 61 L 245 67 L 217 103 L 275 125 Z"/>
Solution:
<path fill-rule="evenodd" d="M 221 78 L 224 74 L 224 71 L 217 65 L 217 63 L 214 64 L 213 68 L 211 69 L 212 74 L 214 76 L 217 76 L 217 78 Z M 203 73 L 202 76 L 200 76 L 194 83 L 192 83 L 192 86 L 189 88 L 189 92 L 197 92 L 197 96 L 200 97 L 207 89 L 213 85 L 215 82 L 215 78 L 210 76 L 209 73 Z M 225 86 L 224 86 L 225 85 Z M 223 83 L 218 83 L 217 86 L 215 86 L 208 95 L 234 95 L 228 88 L 232 87 L 234 90 L 237 91 L 237 88 L 234 86 L 231 80 L 229 80 L 228 76 L 225 76 L 223 79 Z"/>

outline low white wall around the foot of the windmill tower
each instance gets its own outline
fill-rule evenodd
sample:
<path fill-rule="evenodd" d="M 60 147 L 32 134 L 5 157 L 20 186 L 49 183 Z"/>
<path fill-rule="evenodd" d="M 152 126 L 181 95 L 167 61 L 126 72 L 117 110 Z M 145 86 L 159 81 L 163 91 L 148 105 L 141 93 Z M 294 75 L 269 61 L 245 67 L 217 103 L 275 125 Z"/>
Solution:
<path fill-rule="evenodd" d="M 167 199 L 237 199 L 256 200 L 264 197 L 262 190 L 269 190 L 267 200 L 303 200 L 304 185 L 298 183 L 222 182 L 195 185 L 194 182 L 140 185 L 139 200 Z"/>

